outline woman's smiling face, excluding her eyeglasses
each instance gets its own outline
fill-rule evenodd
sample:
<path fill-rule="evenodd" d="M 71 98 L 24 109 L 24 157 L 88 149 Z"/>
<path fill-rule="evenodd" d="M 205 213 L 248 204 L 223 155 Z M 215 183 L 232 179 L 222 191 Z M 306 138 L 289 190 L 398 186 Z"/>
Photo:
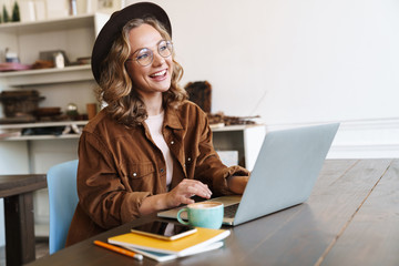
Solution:
<path fill-rule="evenodd" d="M 131 59 L 126 61 L 126 70 L 134 86 L 143 100 L 161 96 L 171 86 L 173 72 L 172 55 L 163 58 L 158 53 L 158 43 L 163 40 L 161 33 L 150 24 L 142 24 L 129 33 Z M 153 52 L 153 62 L 142 66 L 135 58 L 137 51 L 146 48 Z"/>

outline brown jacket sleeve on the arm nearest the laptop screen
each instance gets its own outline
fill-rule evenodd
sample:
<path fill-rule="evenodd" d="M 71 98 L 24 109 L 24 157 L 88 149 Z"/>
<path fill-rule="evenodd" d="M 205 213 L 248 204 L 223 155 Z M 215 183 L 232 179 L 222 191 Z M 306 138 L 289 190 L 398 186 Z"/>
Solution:
<path fill-rule="evenodd" d="M 249 171 L 235 165 L 224 165 L 214 150 L 212 142 L 212 130 L 208 119 L 203 111 L 198 111 L 198 150 L 196 160 L 195 178 L 206 183 L 215 196 L 233 194 L 227 186 L 226 178 L 233 175 L 249 176 Z"/>

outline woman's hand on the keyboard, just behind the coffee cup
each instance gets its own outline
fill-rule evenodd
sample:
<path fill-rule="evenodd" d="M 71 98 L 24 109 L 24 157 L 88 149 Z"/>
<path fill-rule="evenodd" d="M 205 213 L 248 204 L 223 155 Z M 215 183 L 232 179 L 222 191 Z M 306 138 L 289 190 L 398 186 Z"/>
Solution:
<path fill-rule="evenodd" d="M 176 187 L 166 194 L 167 207 L 176 207 L 181 204 L 192 204 L 193 196 L 211 198 L 212 192 L 207 185 L 196 180 L 183 180 Z"/>

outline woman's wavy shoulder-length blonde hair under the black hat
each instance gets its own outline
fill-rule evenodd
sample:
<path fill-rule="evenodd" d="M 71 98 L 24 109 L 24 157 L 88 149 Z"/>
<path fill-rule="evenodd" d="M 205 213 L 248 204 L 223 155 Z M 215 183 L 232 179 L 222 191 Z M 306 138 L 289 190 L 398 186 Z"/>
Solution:
<path fill-rule="evenodd" d="M 142 24 L 150 24 L 156 29 L 162 38 L 171 41 L 171 35 L 165 28 L 153 18 L 133 19 L 129 21 L 122 33 L 113 42 L 112 48 L 101 64 L 99 88 L 96 96 L 100 102 L 108 104 L 109 114 L 119 123 L 126 126 L 141 124 L 146 117 L 147 112 L 144 102 L 141 100 L 136 88 L 127 74 L 125 62 L 131 54 L 131 47 L 129 42 L 129 32 Z M 183 68 L 175 60 L 175 54 L 172 54 L 173 72 L 171 88 L 163 93 L 164 108 L 177 108 L 186 99 L 186 91 L 178 85 L 183 76 Z"/>

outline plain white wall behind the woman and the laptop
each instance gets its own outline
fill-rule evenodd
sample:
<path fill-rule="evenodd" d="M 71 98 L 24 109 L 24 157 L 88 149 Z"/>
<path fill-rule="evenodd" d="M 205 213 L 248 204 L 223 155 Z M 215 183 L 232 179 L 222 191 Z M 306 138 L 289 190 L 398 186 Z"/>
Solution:
<path fill-rule="evenodd" d="M 182 84 L 209 81 L 213 112 L 270 129 L 340 121 L 336 145 L 396 147 L 339 156 L 399 155 L 399 1 L 153 2 L 170 14 Z"/>

